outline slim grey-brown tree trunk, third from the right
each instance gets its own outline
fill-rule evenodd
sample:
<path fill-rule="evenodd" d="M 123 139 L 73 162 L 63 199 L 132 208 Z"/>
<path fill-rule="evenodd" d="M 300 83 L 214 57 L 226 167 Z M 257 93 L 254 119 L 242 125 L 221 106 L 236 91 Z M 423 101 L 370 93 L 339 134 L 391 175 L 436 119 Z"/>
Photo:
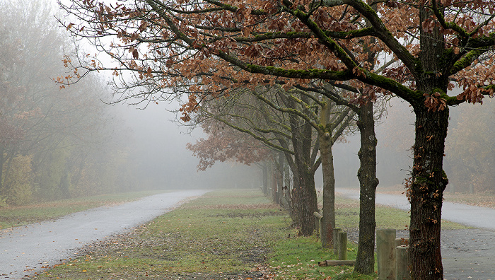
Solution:
<path fill-rule="evenodd" d="M 321 240 L 323 247 L 333 245 L 335 228 L 335 176 L 332 155 L 332 136 L 329 132 L 320 135 L 320 156 L 323 173 L 323 218 Z"/>

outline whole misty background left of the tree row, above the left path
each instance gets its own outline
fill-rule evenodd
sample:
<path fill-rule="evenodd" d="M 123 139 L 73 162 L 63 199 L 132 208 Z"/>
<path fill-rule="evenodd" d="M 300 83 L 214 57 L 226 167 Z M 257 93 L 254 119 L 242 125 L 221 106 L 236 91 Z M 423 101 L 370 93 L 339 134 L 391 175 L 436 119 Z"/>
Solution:
<path fill-rule="evenodd" d="M 0 18 L 0 206 L 141 189 L 260 187 L 255 167 L 223 163 L 198 173 L 185 146 L 201 129 L 189 134 L 172 121 L 178 105 L 116 103 L 105 71 L 60 83 L 74 75 L 66 66 L 76 46 L 54 18 L 55 1 L 0 0 L 0 8 L 10 15 Z"/>

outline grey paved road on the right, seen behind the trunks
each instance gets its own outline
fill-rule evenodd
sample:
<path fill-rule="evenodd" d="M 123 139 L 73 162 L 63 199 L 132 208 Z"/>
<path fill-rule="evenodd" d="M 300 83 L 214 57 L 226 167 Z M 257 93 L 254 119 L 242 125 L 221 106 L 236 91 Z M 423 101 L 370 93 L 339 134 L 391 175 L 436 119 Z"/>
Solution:
<path fill-rule="evenodd" d="M 359 189 L 337 188 L 335 192 L 359 199 Z M 410 209 L 405 195 L 378 193 L 376 203 Z M 442 219 L 473 227 L 442 231 L 444 278 L 495 280 L 495 209 L 443 202 Z"/>

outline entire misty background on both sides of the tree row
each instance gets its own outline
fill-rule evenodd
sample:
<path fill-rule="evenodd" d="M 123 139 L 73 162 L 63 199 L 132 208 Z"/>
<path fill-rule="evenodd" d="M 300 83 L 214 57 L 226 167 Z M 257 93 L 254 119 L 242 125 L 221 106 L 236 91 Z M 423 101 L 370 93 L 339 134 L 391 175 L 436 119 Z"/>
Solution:
<path fill-rule="evenodd" d="M 197 171 L 186 144 L 206 136 L 176 121 L 178 103 L 108 105 L 116 97 L 104 75 L 60 88 L 55 81 L 67 75 L 66 55 L 75 47 L 54 17 L 55 1 L 0 0 L 0 8 L 0 205 L 141 189 L 261 187 L 256 164 L 227 161 Z M 447 191 L 494 191 L 490 101 L 484 110 L 450 110 Z M 411 108 L 392 98 L 376 134 L 378 189 L 401 188 L 412 164 Z M 334 145 L 337 187 L 359 187 L 359 146 L 359 135 Z M 321 170 L 315 180 L 322 187 Z"/>

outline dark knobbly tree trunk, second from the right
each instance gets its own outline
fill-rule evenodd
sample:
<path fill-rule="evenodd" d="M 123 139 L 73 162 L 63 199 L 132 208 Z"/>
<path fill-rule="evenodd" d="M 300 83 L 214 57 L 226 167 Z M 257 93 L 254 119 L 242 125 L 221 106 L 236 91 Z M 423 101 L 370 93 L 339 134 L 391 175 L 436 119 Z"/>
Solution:
<path fill-rule="evenodd" d="M 373 103 L 361 105 L 357 125 L 361 134 L 359 149 L 359 240 L 354 272 L 372 274 L 375 267 L 375 193 L 378 186 L 376 177 L 375 119 Z"/>

